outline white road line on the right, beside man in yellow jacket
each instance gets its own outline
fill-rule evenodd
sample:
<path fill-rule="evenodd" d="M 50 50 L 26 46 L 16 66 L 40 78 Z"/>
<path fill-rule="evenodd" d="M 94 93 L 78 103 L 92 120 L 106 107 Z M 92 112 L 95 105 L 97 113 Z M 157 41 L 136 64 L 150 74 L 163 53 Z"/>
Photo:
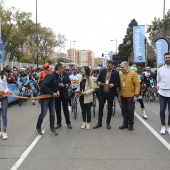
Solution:
<path fill-rule="evenodd" d="M 135 116 L 158 138 L 160 142 L 162 142 L 165 147 L 170 151 L 170 144 L 160 136 L 148 123 L 146 123 L 136 112 Z"/>

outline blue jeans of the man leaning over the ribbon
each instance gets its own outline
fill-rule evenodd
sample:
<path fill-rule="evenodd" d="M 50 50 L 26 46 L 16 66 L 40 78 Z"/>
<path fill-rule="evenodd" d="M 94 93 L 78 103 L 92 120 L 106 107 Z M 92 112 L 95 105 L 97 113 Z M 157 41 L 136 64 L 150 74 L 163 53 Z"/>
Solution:
<path fill-rule="evenodd" d="M 41 128 L 41 124 L 42 124 L 43 119 L 46 116 L 47 110 L 49 108 L 49 112 L 50 112 L 50 128 L 54 128 L 55 98 L 54 97 L 49 97 L 49 98 L 40 99 L 40 104 L 41 104 L 41 113 L 40 113 L 40 115 L 38 117 L 36 127 Z"/>

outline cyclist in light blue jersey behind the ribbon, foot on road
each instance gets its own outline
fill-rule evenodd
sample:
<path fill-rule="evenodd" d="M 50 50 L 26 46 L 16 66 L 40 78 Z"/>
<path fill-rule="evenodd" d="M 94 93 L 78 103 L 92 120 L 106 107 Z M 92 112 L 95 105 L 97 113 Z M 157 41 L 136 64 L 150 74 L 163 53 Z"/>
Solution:
<path fill-rule="evenodd" d="M 20 76 L 18 77 L 17 84 L 19 85 L 19 91 L 22 92 L 22 87 L 25 86 L 29 89 L 31 97 L 33 97 L 32 87 L 29 82 L 29 75 L 27 71 L 22 71 Z M 32 100 L 32 104 L 35 105 L 34 100 Z"/>

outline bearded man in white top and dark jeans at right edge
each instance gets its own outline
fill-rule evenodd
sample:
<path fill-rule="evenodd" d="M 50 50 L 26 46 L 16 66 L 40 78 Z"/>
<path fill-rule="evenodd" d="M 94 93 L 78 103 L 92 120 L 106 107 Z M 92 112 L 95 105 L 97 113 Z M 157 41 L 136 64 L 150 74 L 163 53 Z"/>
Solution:
<path fill-rule="evenodd" d="M 160 103 L 160 119 L 162 128 L 160 133 L 165 135 L 166 131 L 170 134 L 170 52 L 164 54 L 165 65 L 158 69 L 157 89 Z M 165 110 L 168 104 L 168 126 L 166 128 Z"/>

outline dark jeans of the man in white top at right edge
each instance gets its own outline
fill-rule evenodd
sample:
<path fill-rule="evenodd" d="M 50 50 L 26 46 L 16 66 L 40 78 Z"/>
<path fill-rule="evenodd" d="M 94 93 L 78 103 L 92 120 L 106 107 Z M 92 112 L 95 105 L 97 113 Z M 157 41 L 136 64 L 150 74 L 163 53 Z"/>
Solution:
<path fill-rule="evenodd" d="M 166 125 L 165 123 L 165 109 L 168 104 L 168 125 L 170 126 L 170 97 L 164 97 L 159 95 L 159 104 L 160 104 L 160 119 L 161 119 L 161 124 L 164 126 Z"/>

